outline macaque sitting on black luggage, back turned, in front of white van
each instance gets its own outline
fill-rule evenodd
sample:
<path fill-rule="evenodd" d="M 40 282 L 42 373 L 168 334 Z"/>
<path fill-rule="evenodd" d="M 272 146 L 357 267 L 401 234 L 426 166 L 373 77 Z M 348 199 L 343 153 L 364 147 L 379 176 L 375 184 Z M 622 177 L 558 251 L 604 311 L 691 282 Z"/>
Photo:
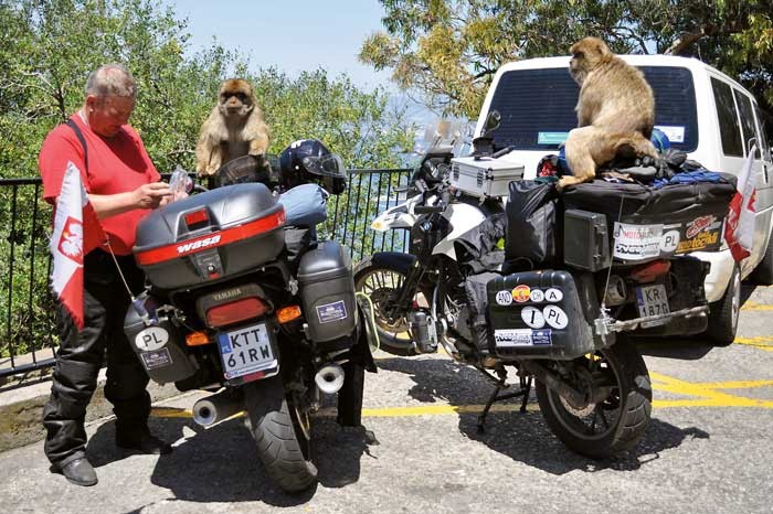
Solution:
<path fill-rule="evenodd" d="M 657 157 L 649 136 L 655 124 L 655 97 L 642 72 L 612 53 L 597 38 L 571 47 L 570 73 L 580 85 L 578 128 L 566 139 L 572 175 L 559 189 L 587 182 L 596 167 L 615 157 Z"/>

